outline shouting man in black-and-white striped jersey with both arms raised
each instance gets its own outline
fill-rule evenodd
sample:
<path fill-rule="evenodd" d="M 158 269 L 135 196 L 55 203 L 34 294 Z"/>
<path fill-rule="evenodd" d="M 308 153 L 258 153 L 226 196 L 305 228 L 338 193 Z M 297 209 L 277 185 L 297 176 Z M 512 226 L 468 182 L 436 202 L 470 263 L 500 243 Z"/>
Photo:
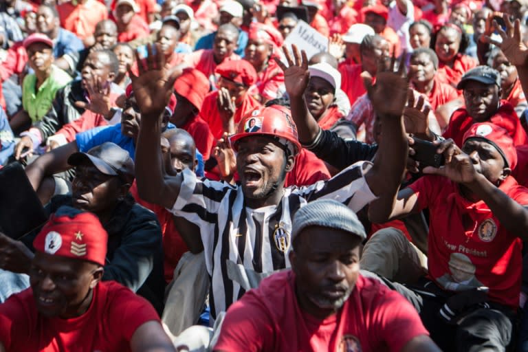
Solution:
<path fill-rule="evenodd" d="M 401 114 L 408 81 L 402 70 L 382 72 L 376 85 L 368 85 L 384 121 L 384 138 L 373 165 L 360 162 L 328 181 L 284 188 L 285 175 L 294 166 L 300 144 L 289 110 L 272 106 L 256 109 L 243 118 L 230 139 L 240 177 L 239 184 L 233 186 L 197 179 L 187 170 L 176 176 L 164 175 L 157 142 L 161 132 L 159 117 L 178 73 L 170 71 L 162 55 L 150 51 L 148 67 L 140 67 L 140 76 L 131 74 L 142 113 L 136 151 L 137 188 L 142 199 L 197 224 L 199 231 L 181 234 L 192 252 L 205 250 L 212 318 L 258 285 L 261 278 L 290 266 L 287 251 L 292 217 L 307 202 L 336 199 L 355 212 L 372 202 L 369 211 L 390 212 L 382 207 L 395 199 L 407 155 Z M 289 56 L 287 60 L 285 76 L 297 77 L 300 57 L 296 55 L 296 65 Z M 309 76 L 303 77 L 308 79 Z M 306 84 L 303 80 L 299 86 Z M 288 91 L 290 96 L 298 94 L 294 89 Z M 255 131 L 250 126 L 252 119 L 257 120 L 255 125 L 260 124 L 260 129 Z M 234 277 L 243 280 L 239 283 Z"/>

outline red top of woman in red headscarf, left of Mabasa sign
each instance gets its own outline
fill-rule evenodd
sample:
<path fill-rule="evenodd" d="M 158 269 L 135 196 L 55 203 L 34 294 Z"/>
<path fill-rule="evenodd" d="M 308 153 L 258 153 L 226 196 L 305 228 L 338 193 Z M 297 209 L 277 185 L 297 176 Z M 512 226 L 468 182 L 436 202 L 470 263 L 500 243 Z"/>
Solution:
<path fill-rule="evenodd" d="M 263 72 L 257 74 L 256 83 L 250 88 L 250 94 L 252 96 L 259 95 L 262 101 L 266 102 L 278 98 L 281 91 L 285 90 L 284 72 L 281 67 L 278 67 L 274 59 L 270 58 Z"/>

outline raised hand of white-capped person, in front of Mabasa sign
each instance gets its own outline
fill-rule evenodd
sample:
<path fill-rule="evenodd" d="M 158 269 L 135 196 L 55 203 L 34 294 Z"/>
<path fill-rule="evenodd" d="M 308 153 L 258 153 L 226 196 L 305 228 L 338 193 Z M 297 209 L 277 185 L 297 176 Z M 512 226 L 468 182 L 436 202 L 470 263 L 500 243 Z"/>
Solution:
<path fill-rule="evenodd" d="M 306 87 L 310 80 L 310 72 L 308 71 L 308 58 L 306 52 L 299 50 L 296 45 L 292 45 L 292 52 L 294 53 L 295 63 L 292 56 L 289 54 L 287 48 L 283 47 L 284 56 L 288 63 L 286 66 L 281 60 L 274 57 L 277 65 L 284 71 L 284 84 L 286 91 L 290 97 L 299 97 L 305 94 Z"/>

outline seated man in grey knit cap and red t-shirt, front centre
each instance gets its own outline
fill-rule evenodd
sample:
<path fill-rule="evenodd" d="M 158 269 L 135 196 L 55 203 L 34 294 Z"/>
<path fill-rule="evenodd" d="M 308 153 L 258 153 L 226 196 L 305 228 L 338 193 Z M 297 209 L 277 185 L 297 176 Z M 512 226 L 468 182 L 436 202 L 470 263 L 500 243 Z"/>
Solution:
<path fill-rule="evenodd" d="M 292 269 L 228 309 L 214 351 L 440 351 L 404 297 L 360 274 L 365 239 L 342 203 L 322 199 L 300 208 Z"/>

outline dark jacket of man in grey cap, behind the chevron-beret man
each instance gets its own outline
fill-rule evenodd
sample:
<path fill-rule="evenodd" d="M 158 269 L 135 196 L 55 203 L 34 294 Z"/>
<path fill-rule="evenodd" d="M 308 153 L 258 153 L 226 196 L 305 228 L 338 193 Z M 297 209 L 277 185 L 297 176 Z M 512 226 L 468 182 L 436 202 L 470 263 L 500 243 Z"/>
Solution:
<path fill-rule="evenodd" d="M 71 195 L 56 195 L 45 210 L 72 206 Z M 165 292 L 162 230 L 156 215 L 128 195 L 118 203 L 113 217 L 103 227 L 108 232 L 107 264 L 104 281 L 117 281 L 146 298 L 161 314 Z M 40 230 L 40 229 L 39 229 Z M 25 236 L 23 242 L 34 250 L 33 239 L 39 231 Z M 27 237 L 27 238 L 26 238 Z"/>

